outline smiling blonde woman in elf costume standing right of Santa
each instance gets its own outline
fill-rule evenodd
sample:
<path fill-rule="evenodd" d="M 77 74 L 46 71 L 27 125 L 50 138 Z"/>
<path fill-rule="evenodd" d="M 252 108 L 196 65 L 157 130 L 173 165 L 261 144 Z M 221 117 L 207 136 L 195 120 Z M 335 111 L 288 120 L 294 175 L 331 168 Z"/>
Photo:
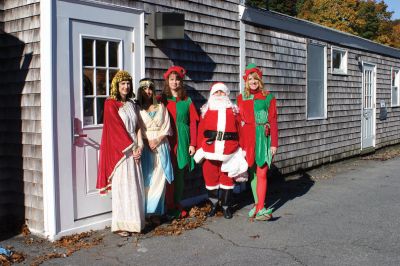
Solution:
<path fill-rule="evenodd" d="M 265 221 L 272 218 L 265 208 L 267 172 L 278 148 L 278 123 L 276 99 L 264 89 L 262 71 L 255 65 L 246 67 L 244 92 L 237 97 L 241 117 L 241 146 L 249 165 L 254 207 L 249 217 Z"/>

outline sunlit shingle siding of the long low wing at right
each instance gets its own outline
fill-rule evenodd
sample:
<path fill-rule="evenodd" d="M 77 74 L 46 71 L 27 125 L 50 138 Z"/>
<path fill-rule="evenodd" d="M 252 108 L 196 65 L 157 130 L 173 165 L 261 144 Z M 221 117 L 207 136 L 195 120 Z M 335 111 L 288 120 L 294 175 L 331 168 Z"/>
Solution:
<path fill-rule="evenodd" d="M 327 46 L 327 118 L 307 120 L 307 39 L 246 24 L 246 63 L 264 72 L 263 80 L 277 98 L 279 153 L 275 164 L 281 173 L 315 167 L 360 154 L 362 68 L 356 59 L 376 64 L 376 147 L 400 142 L 400 107 L 388 108 L 388 119 L 379 120 L 380 101 L 390 106 L 390 66 L 399 59 L 344 48 L 348 51 L 347 75 L 331 73 L 331 46 Z"/>

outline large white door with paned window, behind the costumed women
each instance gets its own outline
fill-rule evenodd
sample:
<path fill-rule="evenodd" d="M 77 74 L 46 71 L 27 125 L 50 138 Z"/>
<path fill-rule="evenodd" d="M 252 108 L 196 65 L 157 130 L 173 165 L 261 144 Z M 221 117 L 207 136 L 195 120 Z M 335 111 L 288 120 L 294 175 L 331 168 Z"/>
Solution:
<path fill-rule="evenodd" d="M 129 28 L 72 21 L 75 220 L 111 211 L 110 196 L 96 189 L 103 106 L 115 73 L 132 69 L 132 34 Z"/>

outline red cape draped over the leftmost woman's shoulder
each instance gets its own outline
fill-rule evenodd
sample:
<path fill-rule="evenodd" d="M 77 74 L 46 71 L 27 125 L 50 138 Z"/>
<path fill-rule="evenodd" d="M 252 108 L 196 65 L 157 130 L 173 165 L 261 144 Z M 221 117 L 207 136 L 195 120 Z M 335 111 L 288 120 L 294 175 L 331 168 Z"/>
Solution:
<path fill-rule="evenodd" d="M 105 194 L 111 189 L 114 169 L 125 158 L 124 151 L 133 144 L 133 140 L 118 114 L 121 106 L 121 102 L 113 99 L 107 99 L 104 103 L 103 133 L 96 184 L 96 188 L 100 189 L 101 194 Z"/>

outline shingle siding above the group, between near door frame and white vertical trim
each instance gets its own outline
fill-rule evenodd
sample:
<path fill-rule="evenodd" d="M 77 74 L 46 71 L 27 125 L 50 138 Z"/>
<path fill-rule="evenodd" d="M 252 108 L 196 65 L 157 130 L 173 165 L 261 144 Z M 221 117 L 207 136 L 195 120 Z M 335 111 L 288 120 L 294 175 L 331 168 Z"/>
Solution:
<path fill-rule="evenodd" d="M 158 91 L 163 88 L 163 73 L 176 64 L 188 71 L 184 83 L 197 107 L 209 96 L 214 81 L 225 82 L 235 97 L 240 78 L 239 0 L 101 1 L 145 10 L 146 76 L 155 80 Z M 184 13 L 185 40 L 150 40 L 147 24 L 153 12 Z M 202 179 L 186 181 L 185 196 L 198 195 Z"/>

